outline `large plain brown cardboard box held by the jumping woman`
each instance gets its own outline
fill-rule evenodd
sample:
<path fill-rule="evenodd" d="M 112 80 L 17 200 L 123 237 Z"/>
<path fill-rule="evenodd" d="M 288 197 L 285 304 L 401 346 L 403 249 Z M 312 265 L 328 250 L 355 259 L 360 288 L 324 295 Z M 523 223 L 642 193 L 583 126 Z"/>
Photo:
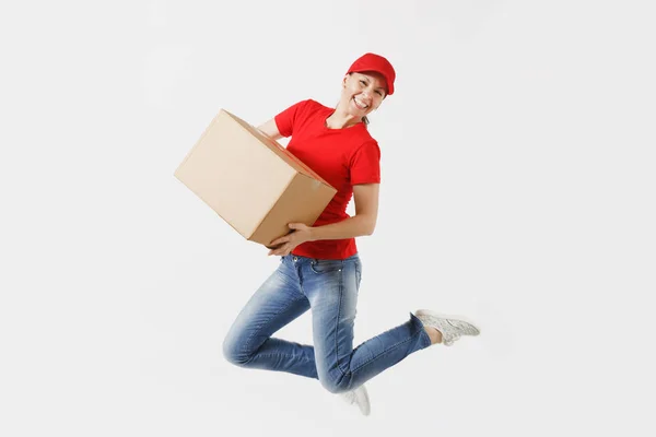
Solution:
<path fill-rule="evenodd" d="M 337 190 L 280 143 L 221 109 L 175 177 L 246 239 L 270 247 L 312 226 Z"/>

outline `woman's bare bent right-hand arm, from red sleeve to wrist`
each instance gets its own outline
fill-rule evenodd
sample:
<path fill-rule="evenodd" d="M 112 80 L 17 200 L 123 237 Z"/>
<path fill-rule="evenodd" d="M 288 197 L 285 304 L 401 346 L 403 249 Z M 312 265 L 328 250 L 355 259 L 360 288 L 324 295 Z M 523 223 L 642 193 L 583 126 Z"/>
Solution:
<path fill-rule="evenodd" d="M 345 239 L 372 235 L 378 217 L 378 191 L 380 184 L 353 186 L 355 215 L 339 223 L 311 227 L 311 240 Z"/>

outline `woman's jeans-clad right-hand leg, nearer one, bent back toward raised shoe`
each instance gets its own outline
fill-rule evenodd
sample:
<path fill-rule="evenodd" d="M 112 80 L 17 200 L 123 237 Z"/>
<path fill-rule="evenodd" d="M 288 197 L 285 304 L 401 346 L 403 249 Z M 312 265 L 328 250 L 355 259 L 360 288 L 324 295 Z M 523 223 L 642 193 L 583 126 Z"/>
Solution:
<path fill-rule="evenodd" d="M 316 368 L 327 390 L 335 393 L 353 390 L 411 353 L 431 345 L 423 323 L 410 312 L 410 320 L 353 349 L 362 272 L 360 258 L 336 261 L 304 258 L 303 263 L 303 291 L 312 308 Z"/>

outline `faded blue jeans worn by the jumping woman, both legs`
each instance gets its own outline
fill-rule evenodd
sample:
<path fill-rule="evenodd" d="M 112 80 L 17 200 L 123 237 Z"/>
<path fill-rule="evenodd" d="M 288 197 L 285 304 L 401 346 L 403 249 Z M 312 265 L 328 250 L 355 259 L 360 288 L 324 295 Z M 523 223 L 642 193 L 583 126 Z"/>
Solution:
<path fill-rule="evenodd" d="M 339 393 L 430 346 L 422 322 L 410 312 L 410 320 L 353 349 L 361 275 L 358 255 L 343 260 L 282 257 L 232 324 L 223 342 L 225 358 L 241 367 L 315 378 Z M 314 346 L 271 336 L 308 309 Z"/>

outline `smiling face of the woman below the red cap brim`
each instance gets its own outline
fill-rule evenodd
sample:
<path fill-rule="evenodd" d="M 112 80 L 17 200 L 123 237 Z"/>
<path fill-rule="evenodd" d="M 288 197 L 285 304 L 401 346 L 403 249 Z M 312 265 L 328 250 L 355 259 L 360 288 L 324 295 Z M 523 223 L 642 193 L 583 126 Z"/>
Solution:
<path fill-rule="evenodd" d="M 344 78 L 340 105 L 358 118 L 380 106 L 385 99 L 385 78 L 376 72 L 351 73 Z"/>

